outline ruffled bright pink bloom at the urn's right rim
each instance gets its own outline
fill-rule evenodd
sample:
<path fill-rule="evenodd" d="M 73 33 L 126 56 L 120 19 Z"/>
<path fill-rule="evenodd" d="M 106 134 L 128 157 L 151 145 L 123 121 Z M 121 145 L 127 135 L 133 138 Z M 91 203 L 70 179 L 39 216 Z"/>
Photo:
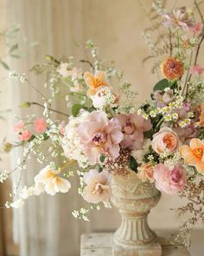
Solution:
<path fill-rule="evenodd" d="M 186 185 L 186 172 L 181 164 L 176 164 L 169 170 L 165 164 L 160 163 L 154 172 L 156 188 L 166 194 L 177 194 Z"/>

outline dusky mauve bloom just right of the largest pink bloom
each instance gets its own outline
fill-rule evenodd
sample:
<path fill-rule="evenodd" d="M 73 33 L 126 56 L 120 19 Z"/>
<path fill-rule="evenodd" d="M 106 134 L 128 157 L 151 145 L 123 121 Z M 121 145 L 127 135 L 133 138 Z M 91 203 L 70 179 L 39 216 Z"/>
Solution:
<path fill-rule="evenodd" d="M 124 132 L 124 140 L 120 143 L 124 148 L 140 149 L 143 147 L 143 132 L 152 128 L 150 120 L 145 120 L 142 115 L 120 114 L 118 119 Z"/>

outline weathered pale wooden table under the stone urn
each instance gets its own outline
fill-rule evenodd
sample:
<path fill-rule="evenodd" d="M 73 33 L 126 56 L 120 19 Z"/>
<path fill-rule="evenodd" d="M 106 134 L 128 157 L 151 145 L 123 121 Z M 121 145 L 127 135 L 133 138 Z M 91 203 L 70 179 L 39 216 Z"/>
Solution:
<path fill-rule="evenodd" d="M 159 243 L 163 246 L 163 256 L 189 256 L 188 250 L 182 246 L 172 246 L 169 240 L 172 234 L 156 232 Z M 123 253 L 112 252 L 112 233 L 85 233 L 81 236 L 80 256 L 136 256 L 133 251 Z M 139 256 L 137 254 L 137 256 Z"/>

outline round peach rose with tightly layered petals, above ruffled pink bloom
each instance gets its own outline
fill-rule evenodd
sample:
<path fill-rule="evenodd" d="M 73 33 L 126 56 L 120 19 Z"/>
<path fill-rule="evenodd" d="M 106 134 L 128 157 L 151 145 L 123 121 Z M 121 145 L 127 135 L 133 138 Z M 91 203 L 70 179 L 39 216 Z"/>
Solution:
<path fill-rule="evenodd" d="M 179 144 L 178 135 L 171 128 L 163 127 L 154 135 L 151 146 L 157 154 L 162 154 L 164 152 L 174 153 Z"/>

